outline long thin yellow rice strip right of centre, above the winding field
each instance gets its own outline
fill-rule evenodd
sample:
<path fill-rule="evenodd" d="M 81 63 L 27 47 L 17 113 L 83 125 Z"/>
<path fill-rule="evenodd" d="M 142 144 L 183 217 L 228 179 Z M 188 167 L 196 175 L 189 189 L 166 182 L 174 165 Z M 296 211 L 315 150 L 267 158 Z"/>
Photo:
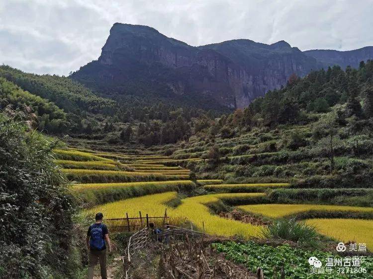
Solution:
<path fill-rule="evenodd" d="M 218 184 L 206 185 L 203 188 L 208 191 L 223 193 L 250 193 L 263 192 L 268 188 L 288 187 L 288 183 L 250 183 L 250 184 Z"/>

